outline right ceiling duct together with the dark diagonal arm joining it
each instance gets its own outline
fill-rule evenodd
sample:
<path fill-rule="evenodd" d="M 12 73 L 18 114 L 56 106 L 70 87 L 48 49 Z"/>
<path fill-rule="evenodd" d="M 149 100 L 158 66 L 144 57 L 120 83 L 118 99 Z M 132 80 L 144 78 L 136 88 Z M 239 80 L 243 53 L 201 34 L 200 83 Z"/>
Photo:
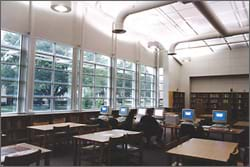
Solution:
<path fill-rule="evenodd" d="M 233 36 L 233 35 L 249 33 L 249 27 L 237 28 L 237 29 L 228 31 L 205 2 L 194 1 L 192 3 L 206 17 L 206 19 L 211 23 L 211 25 L 217 30 L 218 33 L 197 35 L 192 38 L 188 38 L 188 39 L 184 39 L 184 40 L 172 43 L 170 45 L 168 55 L 175 55 L 176 54 L 175 48 L 180 43 L 200 41 L 200 40 L 213 39 L 213 38 L 223 38 L 223 37 L 228 37 L 228 36 Z"/>

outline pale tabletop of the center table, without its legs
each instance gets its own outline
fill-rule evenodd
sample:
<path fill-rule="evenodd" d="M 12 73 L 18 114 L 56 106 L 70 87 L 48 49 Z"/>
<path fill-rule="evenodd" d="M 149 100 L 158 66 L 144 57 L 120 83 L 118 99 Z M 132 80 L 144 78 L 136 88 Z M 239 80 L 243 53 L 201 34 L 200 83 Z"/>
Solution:
<path fill-rule="evenodd" d="M 125 134 L 138 134 L 138 133 L 141 133 L 141 132 L 128 131 L 128 130 L 123 130 L 123 129 L 112 129 L 112 130 L 89 133 L 89 134 L 84 134 L 84 135 L 77 135 L 77 136 L 74 136 L 74 138 L 82 139 L 86 141 L 98 142 L 98 143 L 107 143 L 110 137 L 114 138 L 114 137 L 121 137 Z"/>

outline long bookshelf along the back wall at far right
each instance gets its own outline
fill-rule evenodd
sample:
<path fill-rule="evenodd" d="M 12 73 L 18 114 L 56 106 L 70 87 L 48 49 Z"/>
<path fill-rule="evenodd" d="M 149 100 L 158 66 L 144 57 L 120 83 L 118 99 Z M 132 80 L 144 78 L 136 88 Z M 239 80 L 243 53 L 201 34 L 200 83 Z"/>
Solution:
<path fill-rule="evenodd" d="M 229 121 L 248 120 L 248 92 L 192 92 L 190 106 L 197 115 L 211 114 L 212 110 L 227 110 Z"/>

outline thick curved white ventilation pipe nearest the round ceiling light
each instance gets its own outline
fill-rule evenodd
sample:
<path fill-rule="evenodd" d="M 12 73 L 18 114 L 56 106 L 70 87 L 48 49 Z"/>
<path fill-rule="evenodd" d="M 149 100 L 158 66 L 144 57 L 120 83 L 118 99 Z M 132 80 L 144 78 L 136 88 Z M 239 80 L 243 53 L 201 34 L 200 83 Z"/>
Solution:
<path fill-rule="evenodd" d="M 133 6 L 132 8 L 131 7 L 126 8 L 117 15 L 115 22 L 114 22 L 114 29 L 112 30 L 112 32 L 117 33 L 117 34 L 125 33 L 126 30 L 124 30 L 123 28 L 123 23 L 126 17 L 131 14 L 142 12 L 144 10 L 157 8 L 157 7 L 164 6 L 164 5 L 168 5 L 174 2 L 177 2 L 177 1 L 176 0 L 175 1 L 174 0 L 158 1 L 158 2 L 153 2 L 153 3 L 147 3 L 144 5 Z"/>

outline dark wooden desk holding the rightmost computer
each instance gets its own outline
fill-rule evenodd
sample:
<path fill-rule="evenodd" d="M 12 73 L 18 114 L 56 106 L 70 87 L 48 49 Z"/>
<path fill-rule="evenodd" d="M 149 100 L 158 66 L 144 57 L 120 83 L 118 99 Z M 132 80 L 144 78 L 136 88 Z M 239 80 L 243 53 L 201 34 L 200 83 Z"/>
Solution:
<path fill-rule="evenodd" d="M 244 129 L 236 129 L 236 128 L 230 128 L 230 129 L 224 129 L 224 128 L 214 128 L 214 127 L 203 127 L 203 130 L 208 133 L 220 133 L 222 135 L 222 140 L 224 140 L 225 134 L 231 134 L 233 136 L 233 141 L 237 140 L 237 137 L 240 136 L 240 134 L 244 131 Z M 239 139 L 239 138 L 238 138 Z"/>

